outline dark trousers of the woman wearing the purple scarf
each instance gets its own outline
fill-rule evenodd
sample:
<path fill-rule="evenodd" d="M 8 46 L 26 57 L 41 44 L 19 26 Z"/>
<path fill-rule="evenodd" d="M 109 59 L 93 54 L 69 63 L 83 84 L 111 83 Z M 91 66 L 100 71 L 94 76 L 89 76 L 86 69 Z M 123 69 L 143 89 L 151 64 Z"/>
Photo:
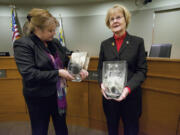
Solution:
<path fill-rule="evenodd" d="M 50 97 L 25 96 L 31 120 L 32 135 L 47 135 L 50 116 L 56 135 L 68 135 L 66 115 L 59 115 L 56 94 Z"/>

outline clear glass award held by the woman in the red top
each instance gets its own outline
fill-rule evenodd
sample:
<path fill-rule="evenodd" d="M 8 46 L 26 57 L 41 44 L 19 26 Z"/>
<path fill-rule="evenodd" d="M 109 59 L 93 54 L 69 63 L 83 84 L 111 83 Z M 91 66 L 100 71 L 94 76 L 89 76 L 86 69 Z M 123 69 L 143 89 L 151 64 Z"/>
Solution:
<path fill-rule="evenodd" d="M 107 97 L 116 99 L 120 97 L 127 82 L 126 61 L 104 61 L 102 83 Z"/>

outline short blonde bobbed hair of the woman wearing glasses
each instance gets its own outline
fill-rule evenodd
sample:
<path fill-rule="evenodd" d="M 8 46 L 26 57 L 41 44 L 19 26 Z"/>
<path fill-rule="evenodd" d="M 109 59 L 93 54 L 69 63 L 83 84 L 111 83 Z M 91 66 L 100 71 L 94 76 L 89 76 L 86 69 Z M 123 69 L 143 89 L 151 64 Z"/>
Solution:
<path fill-rule="evenodd" d="M 119 5 L 119 4 L 114 5 L 112 8 L 108 10 L 106 14 L 106 19 L 105 19 L 106 26 L 110 28 L 110 22 L 109 22 L 110 16 L 114 13 L 115 10 L 118 10 L 119 12 L 123 13 L 125 21 L 126 21 L 126 28 L 127 28 L 131 19 L 131 14 L 125 6 Z"/>

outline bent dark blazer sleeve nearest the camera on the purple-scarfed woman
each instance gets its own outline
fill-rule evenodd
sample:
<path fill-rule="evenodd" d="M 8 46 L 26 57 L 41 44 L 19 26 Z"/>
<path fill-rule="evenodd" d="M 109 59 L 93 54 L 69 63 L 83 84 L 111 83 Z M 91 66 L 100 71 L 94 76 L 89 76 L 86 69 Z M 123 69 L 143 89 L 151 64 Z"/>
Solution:
<path fill-rule="evenodd" d="M 16 40 L 13 46 L 14 57 L 20 74 L 24 81 L 33 83 L 42 81 L 45 83 L 56 83 L 58 70 L 41 71 L 35 64 L 35 53 L 33 42 L 27 39 Z"/>

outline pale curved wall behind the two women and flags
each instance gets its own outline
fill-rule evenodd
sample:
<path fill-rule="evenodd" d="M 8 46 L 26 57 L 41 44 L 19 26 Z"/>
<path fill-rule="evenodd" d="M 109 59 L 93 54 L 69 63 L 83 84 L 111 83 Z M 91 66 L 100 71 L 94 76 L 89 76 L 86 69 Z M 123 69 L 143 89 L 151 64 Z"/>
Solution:
<path fill-rule="evenodd" d="M 167 6 L 177 6 L 180 2 L 177 0 L 157 0 L 147 5 L 142 5 L 134 1 L 116 2 L 123 4 L 130 9 L 132 20 L 128 31 L 131 34 L 141 36 L 145 41 L 145 49 L 149 52 L 152 44 L 153 15 L 157 8 L 166 8 Z M 88 51 L 90 56 L 98 56 L 100 43 L 107 37 L 112 36 L 111 31 L 105 26 L 105 14 L 109 7 L 115 2 L 96 3 L 88 5 L 61 5 L 61 6 L 27 6 L 19 5 L 16 7 L 20 26 L 22 27 L 28 11 L 31 8 L 47 8 L 57 19 L 62 16 L 65 42 L 70 50 Z M 11 41 L 11 8 L 8 5 L 0 6 L 1 33 L 0 33 L 0 51 L 12 51 Z M 58 31 L 57 31 L 58 33 Z M 58 37 L 58 34 L 56 34 Z M 179 58 L 176 57 L 175 58 Z"/>

